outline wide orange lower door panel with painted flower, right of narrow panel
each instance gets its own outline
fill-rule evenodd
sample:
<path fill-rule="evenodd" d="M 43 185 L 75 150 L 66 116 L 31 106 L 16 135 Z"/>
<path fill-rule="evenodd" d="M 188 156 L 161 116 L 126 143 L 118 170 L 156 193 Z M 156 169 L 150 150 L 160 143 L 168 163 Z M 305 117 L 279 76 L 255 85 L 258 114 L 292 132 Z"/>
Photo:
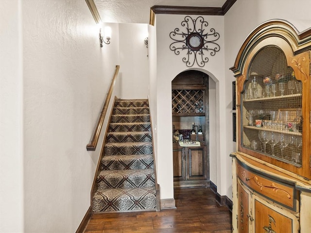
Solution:
<path fill-rule="evenodd" d="M 255 199 L 255 232 L 297 233 L 298 220 L 289 212 Z"/>

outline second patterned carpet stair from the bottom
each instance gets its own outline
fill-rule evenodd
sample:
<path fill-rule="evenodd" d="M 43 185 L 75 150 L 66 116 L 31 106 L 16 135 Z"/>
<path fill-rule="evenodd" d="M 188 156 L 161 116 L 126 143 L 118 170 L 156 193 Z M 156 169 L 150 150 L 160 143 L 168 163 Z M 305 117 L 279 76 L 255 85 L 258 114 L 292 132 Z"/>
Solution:
<path fill-rule="evenodd" d="M 97 176 L 98 189 L 154 187 L 154 169 L 102 170 Z"/>

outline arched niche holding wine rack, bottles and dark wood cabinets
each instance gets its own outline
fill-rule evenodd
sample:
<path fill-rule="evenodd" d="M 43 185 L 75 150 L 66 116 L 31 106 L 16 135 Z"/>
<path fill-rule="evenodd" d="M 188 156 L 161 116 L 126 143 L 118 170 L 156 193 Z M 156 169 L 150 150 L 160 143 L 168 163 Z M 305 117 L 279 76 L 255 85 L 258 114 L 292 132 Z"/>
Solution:
<path fill-rule="evenodd" d="M 208 80 L 204 72 L 187 70 L 172 81 L 174 187 L 209 186 Z M 190 144 L 180 143 L 181 134 Z"/>

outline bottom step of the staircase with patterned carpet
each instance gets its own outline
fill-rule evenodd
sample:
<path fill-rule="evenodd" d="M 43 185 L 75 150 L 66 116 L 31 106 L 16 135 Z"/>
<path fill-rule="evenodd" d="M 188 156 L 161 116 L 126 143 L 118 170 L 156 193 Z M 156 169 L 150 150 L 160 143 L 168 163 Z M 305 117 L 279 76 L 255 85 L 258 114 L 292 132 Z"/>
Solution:
<path fill-rule="evenodd" d="M 93 212 L 155 210 L 155 187 L 98 189 Z"/>

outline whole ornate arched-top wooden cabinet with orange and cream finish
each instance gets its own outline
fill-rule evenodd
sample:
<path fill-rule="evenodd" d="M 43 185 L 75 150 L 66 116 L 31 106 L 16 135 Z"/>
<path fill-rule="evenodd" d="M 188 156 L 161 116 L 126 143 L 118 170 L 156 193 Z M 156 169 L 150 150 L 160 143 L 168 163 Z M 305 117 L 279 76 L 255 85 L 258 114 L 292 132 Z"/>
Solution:
<path fill-rule="evenodd" d="M 237 78 L 233 232 L 311 231 L 311 30 L 284 21 L 245 40 Z"/>

